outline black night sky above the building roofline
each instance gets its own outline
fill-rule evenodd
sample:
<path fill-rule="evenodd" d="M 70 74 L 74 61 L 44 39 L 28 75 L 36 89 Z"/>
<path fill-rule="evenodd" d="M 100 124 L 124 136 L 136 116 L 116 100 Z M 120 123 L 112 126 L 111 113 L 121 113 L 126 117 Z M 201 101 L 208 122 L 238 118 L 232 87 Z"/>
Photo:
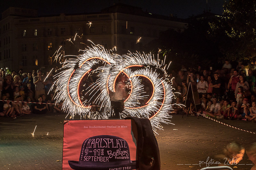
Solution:
<path fill-rule="evenodd" d="M 143 11 L 153 14 L 177 16 L 178 18 L 188 18 L 192 15 L 202 14 L 206 11 L 207 0 L 73 0 L 73 1 L 56 1 L 56 0 L 6 0 L 0 5 L 2 13 L 8 7 L 30 8 L 38 10 L 38 15 L 54 15 L 60 13 L 89 13 L 100 12 L 101 9 L 107 8 L 114 3 L 124 3 L 141 7 Z M 208 10 L 211 8 L 212 13 L 221 14 L 224 0 L 208 0 Z"/>

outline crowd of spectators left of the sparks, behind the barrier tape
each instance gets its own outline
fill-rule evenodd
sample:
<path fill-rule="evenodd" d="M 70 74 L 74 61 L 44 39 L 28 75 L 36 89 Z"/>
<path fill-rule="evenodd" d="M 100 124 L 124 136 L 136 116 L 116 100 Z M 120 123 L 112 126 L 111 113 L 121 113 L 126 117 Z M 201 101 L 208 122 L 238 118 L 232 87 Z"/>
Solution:
<path fill-rule="evenodd" d="M 53 84 L 52 75 L 41 70 L 24 73 L 22 69 L 6 74 L 0 70 L 0 116 L 16 118 L 26 114 L 62 112 L 55 106 L 53 93 L 48 92 Z"/>

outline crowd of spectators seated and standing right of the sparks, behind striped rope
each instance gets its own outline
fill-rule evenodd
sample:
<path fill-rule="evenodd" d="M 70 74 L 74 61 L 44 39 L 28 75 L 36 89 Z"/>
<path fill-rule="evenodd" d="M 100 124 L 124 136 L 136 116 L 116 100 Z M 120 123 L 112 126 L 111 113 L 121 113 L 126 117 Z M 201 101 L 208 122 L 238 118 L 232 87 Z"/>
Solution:
<path fill-rule="evenodd" d="M 245 69 L 243 62 L 232 68 L 225 61 L 222 69 L 213 71 L 186 69 L 182 66 L 172 78 L 176 99 L 174 103 L 185 106 L 174 107 L 172 114 L 196 115 L 201 113 L 209 117 L 230 120 L 246 120 L 256 122 L 255 74 L 253 65 Z M 188 100 L 189 83 L 196 85 L 201 106 L 195 106 L 194 98 Z M 194 93 L 194 97 L 196 94 Z M 196 98 L 195 98 L 196 100 Z"/>

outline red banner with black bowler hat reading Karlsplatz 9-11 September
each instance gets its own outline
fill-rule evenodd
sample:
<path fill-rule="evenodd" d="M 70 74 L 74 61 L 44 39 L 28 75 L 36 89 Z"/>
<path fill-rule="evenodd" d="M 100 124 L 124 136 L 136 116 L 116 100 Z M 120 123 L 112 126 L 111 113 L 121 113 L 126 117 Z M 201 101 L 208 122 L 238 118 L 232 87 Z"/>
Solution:
<path fill-rule="evenodd" d="M 133 133 L 131 120 L 65 121 L 62 169 L 136 169 Z"/>

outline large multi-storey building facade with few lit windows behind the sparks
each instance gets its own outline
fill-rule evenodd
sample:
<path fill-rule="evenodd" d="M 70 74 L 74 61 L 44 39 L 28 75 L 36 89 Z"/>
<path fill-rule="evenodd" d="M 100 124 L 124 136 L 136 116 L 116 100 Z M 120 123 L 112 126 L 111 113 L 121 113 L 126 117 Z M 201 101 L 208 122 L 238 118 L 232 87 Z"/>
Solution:
<path fill-rule="evenodd" d="M 52 68 L 60 46 L 64 55 L 78 55 L 79 49 L 90 45 L 88 40 L 107 49 L 116 47 L 117 54 L 142 51 L 160 32 L 170 28 L 182 31 L 186 22 L 125 4 L 99 13 L 41 17 L 36 10 L 10 7 L 2 14 L 0 28 L 0 67 L 26 72 Z"/>

